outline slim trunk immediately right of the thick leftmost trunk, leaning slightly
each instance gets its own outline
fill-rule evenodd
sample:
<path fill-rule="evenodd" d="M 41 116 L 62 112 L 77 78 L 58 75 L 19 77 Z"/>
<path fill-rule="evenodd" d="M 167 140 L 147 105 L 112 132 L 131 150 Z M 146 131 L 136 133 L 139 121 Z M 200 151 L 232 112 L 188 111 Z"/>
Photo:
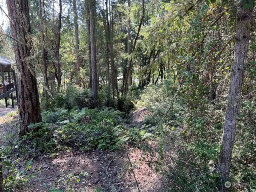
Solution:
<path fill-rule="evenodd" d="M 40 31 L 41 31 L 41 50 L 42 50 L 42 64 L 44 66 L 44 95 L 47 95 L 47 90 L 49 88 L 49 82 L 48 82 L 48 74 L 47 74 L 47 68 L 48 64 L 46 63 L 46 51 L 44 48 L 44 26 L 43 26 L 43 21 L 42 21 L 42 2 L 41 0 L 38 0 L 38 5 L 39 5 L 39 11 L 38 11 L 38 16 L 39 16 L 39 21 L 40 21 Z"/>

